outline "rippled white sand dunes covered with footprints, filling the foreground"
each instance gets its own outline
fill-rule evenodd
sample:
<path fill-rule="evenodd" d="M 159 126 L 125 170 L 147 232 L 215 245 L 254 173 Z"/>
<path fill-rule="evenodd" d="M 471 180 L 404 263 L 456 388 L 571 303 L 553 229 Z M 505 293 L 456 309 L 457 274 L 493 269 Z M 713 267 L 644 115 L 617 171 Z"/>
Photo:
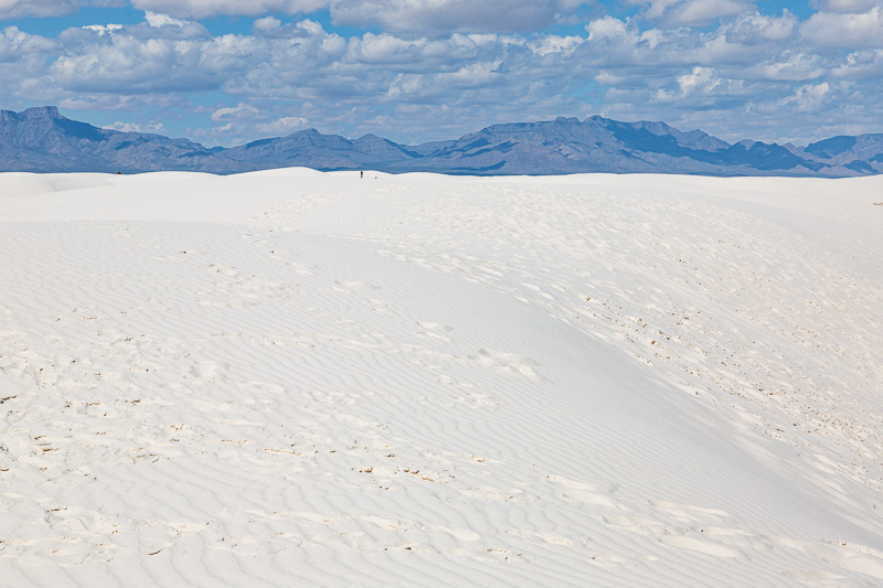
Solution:
<path fill-rule="evenodd" d="M 881 201 L 0 174 L 0 586 L 881 586 Z"/>

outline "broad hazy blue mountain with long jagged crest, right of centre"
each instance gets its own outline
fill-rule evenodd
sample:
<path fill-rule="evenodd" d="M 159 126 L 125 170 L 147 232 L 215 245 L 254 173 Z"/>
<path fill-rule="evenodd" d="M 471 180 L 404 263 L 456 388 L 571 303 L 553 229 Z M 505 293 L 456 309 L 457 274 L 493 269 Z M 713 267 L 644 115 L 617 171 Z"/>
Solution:
<path fill-rule="evenodd" d="M 792 146 L 791 146 L 792 147 Z M 700 130 L 682 132 L 663 122 L 584 121 L 494 125 L 466 135 L 394 169 L 477 174 L 661 172 L 714 175 L 855 175 L 875 171 L 832 167 L 786 147 L 755 141 L 730 145 Z M 881 167 L 883 169 L 883 167 Z"/>

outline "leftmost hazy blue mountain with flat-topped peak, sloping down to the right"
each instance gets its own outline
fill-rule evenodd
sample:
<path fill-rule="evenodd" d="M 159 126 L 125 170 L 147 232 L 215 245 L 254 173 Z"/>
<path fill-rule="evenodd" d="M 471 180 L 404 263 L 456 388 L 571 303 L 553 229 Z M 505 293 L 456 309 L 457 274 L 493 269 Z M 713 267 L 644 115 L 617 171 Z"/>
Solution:
<path fill-rule="evenodd" d="M 47 106 L 18 114 L 0 110 L 0 169 L 232 173 L 256 168 L 215 154 L 188 139 L 99 129 L 65 118 L 57 108 Z"/>

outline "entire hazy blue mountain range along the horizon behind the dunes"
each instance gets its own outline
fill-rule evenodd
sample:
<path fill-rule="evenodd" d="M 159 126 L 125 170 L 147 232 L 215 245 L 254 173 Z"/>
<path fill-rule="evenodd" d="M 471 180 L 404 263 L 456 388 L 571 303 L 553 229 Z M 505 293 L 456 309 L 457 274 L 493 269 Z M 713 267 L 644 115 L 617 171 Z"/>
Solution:
<path fill-rule="evenodd" d="M 417 146 L 374 135 L 351 140 L 309 129 L 208 149 L 188 139 L 97 128 L 62 116 L 54 106 L 0 110 L 0 171 L 225 174 L 286 167 L 474 175 L 613 172 L 843 178 L 883 173 L 883 135 L 840 136 L 806 147 L 751 140 L 728 143 L 664 122 L 593 116 L 493 125 L 457 140 Z"/>

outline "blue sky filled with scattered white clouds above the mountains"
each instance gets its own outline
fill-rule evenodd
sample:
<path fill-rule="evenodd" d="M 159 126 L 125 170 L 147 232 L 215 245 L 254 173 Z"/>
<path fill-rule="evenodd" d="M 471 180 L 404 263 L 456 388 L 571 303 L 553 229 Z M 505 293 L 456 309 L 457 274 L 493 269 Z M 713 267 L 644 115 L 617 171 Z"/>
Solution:
<path fill-rule="evenodd" d="M 0 0 L 0 109 L 235 146 L 661 120 L 883 132 L 883 0 Z"/>

